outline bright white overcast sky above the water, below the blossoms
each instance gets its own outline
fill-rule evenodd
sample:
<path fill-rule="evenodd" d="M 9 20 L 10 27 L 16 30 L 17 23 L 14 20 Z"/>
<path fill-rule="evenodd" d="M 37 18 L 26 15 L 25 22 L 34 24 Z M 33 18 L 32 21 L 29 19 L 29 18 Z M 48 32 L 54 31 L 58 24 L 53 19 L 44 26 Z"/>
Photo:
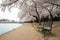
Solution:
<path fill-rule="evenodd" d="M 19 9 L 16 7 L 11 8 L 11 12 L 9 12 L 6 8 L 5 12 L 0 9 L 0 19 L 9 19 L 9 20 L 19 20 L 18 18 Z"/>

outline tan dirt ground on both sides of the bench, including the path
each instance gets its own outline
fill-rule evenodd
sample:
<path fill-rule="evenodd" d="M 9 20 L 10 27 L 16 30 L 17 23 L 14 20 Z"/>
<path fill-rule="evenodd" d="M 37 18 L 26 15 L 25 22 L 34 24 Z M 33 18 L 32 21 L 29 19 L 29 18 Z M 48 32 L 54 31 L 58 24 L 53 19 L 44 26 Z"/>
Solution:
<path fill-rule="evenodd" d="M 53 23 L 54 36 L 47 37 L 46 40 L 60 40 L 60 22 Z M 44 40 L 43 35 L 37 32 L 31 23 L 25 23 L 23 26 L 0 36 L 0 40 Z"/>

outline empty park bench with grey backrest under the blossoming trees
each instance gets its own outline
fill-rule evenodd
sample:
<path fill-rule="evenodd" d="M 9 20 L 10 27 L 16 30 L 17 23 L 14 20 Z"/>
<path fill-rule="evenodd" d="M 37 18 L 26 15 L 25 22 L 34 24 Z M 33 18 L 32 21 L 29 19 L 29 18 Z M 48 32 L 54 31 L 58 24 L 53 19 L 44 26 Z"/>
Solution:
<path fill-rule="evenodd" d="M 41 31 L 43 31 L 44 33 L 46 33 L 46 32 L 51 33 L 52 24 L 53 24 L 53 21 L 45 21 L 45 22 L 42 22 L 42 26 L 38 27 L 38 28 L 41 29 Z"/>

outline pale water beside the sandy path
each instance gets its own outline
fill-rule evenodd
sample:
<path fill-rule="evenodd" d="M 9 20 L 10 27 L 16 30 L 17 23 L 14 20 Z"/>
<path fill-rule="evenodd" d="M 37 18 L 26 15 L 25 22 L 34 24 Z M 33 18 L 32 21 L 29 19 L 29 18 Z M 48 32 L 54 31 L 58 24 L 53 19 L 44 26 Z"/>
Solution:
<path fill-rule="evenodd" d="M 0 23 L 0 35 L 20 27 L 22 24 L 17 23 Z"/>

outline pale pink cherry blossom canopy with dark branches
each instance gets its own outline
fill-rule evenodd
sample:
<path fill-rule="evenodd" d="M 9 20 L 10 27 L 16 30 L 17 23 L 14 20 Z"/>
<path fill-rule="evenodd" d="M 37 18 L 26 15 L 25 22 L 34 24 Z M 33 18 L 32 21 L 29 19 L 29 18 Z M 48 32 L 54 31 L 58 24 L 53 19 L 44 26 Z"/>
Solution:
<path fill-rule="evenodd" d="M 40 23 L 42 18 L 48 17 L 52 20 L 57 14 L 60 14 L 59 4 L 59 0 L 3 0 L 0 8 L 4 12 L 6 7 L 9 11 L 12 7 L 17 7 L 20 9 L 18 17 L 21 20 L 36 20 Z"/>

